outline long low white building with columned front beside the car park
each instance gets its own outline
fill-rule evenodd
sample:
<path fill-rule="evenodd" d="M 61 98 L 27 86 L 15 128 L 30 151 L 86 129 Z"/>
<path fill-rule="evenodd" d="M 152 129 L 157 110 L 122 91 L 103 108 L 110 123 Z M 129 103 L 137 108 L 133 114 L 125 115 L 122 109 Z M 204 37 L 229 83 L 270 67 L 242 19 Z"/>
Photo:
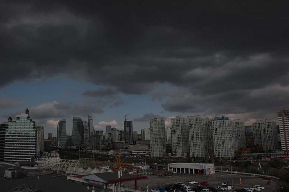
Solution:
<path fill-rule="evenodd" d="M 215 173 L 214 164 L 203 163 L 170 163 L 168 164 L 169 171 L 173 173 L 188 173 L 208 175 Z"/>

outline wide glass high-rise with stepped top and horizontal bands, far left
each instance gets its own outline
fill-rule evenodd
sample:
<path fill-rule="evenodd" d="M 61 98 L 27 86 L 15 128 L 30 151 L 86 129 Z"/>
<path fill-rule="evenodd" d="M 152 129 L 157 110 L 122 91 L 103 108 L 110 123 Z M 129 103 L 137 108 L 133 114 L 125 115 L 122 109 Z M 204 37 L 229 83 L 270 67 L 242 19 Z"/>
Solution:
<path fill-rule="evenodd" d="M 29 110 L 8 122 L 5 135 L 4 162 L 31 161 L 36 156 L 36 128 Z"/>

